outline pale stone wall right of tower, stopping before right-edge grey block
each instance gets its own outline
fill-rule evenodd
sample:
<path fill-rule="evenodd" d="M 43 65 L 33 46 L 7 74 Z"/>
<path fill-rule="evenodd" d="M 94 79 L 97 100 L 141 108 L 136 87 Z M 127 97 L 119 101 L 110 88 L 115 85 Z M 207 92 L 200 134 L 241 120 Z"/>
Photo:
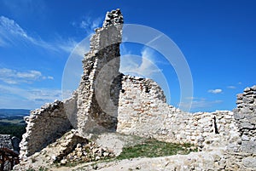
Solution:
<path fill-rule="evenodd" d="M 236 128 L 232 111 L 188 113 L 166 104 L 150 79 L 124 76 L 119 94 L 117 131 L 203 147 L 211 134 L 229 135 Z"/>

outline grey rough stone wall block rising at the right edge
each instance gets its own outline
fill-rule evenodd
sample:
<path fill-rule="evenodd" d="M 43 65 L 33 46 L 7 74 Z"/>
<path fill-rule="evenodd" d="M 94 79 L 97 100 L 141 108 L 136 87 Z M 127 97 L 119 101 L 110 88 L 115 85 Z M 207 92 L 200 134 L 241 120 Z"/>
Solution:
<path fill-rule="evenodd" d="M 240 136 L 235 143 L 228 145 L 228 167 L 256 170 L 256 85 L 245 88 L 243 94 L 237 94 L 236 104 L 234 117 Z"/>

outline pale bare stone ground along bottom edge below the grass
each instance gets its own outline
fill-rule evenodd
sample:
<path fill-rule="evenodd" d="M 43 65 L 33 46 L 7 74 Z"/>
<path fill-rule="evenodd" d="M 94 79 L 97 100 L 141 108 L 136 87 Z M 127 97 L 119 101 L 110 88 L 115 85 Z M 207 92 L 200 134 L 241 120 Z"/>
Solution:
<path fill-rule="evenodd" d="M 221 162 L 214 164 L 214 157 L 219 159 L 220 154 L 211 152 L 190 153 L 189 155 L 176 155 L 172 157 L 136 158 L 116 162 L 100 162 L 96 167 L 87 166 L 77 169 L 82 170 L 221 170 Z"/>

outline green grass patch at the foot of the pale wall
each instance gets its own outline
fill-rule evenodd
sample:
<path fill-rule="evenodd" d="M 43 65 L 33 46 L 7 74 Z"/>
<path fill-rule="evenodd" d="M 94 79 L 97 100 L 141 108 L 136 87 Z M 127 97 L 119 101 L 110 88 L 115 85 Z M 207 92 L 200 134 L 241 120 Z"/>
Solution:
<path fill-rule="evenodd" d="M 143 142 L 143 144 L 134 145 L 130 147 L 125 147 L 122 153 L 117 157 L 117 159 L 129 159 L 136 157 L 165 157 L 172 156 L 176 154 L 189 154 L 191 150 L 190 147 L 193 145 L 190 144 L 173 144 L 166 143 L 154 139 L 148 139 Z"/>

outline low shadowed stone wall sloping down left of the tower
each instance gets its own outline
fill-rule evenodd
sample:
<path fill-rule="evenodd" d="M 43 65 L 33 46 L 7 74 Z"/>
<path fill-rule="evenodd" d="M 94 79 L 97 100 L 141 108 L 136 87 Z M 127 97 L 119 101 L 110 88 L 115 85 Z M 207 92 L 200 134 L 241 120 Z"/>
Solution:
<path fill-rule="evenodd" d="M 27 123 L 26 134 L 23 134 L 20 142 L 21 159 L 26 159 L 26 157 L 42 150 L 72 128 L 64 104 L 58 100 L 31 111 L 30 116 L 26 117 L 25 121 Z"/>

